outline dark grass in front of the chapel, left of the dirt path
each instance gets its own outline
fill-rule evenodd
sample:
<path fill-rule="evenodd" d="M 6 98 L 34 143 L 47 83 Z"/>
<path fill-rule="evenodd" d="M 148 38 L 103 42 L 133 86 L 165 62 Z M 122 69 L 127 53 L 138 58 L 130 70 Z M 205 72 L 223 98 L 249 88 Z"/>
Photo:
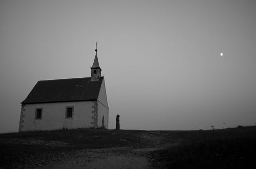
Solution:
<path fill-rule="evenodd" d="M 111 147 L 136 147 L 141 140 L 136 130 L 105 129 L 61 129 L 52 131 L 27 131 L 0 134 L 0 168 L 20 166 L 31 160 L 44 164 L 53 159 L 61 160 L 63 154 L 81 149 L 100 149 Z M 130 133 L 130 134 L 128 134 Z M 43 144 L 24 144 L 22 142 L 41 140 Z M 123 141 L 125 140 L 125 142 Z M 65 143 L 65 146 L 48 146 L 48 143 Z M 42 160 L 44 159 L 44 160 Z"/>

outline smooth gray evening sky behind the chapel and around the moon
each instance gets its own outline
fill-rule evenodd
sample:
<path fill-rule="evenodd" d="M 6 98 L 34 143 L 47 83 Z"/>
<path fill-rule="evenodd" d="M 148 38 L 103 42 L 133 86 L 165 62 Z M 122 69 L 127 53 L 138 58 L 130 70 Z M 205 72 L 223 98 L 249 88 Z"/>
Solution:
<path fill-rule="evenodd" d="M 253 0 L 1 0 L 0 132 L 38 80 L 90 77 L 96 41 L 110 128 L 255 125 L 255 18 Z"/>

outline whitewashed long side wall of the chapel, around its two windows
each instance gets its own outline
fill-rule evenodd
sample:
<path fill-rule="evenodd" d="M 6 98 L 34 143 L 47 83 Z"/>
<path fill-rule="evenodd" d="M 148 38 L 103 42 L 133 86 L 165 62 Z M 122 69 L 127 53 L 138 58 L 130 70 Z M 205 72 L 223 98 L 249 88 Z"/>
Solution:
<path fill-rule="evenodd" d="M 26 104 L 21 131 L 93 127 L 92 105 L 93 101 Z M 73 118 L 66 118 L 66 106 L 74 107 Z M 42 119 L 35 119 L 36 108 L 42 108 Z"/>

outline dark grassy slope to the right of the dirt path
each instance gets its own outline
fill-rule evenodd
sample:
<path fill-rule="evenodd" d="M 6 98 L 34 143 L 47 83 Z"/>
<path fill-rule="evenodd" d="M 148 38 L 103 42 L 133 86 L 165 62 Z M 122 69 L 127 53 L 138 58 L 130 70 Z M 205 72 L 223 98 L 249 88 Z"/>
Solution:
<path fill-rule="evenodd" d="M 256 166 L 256 127 L 183 131 L 179 146 L 155 151 L 161 168 L 253 168 Z M 176 135 L 176 136 L 177 136 Z"/>

